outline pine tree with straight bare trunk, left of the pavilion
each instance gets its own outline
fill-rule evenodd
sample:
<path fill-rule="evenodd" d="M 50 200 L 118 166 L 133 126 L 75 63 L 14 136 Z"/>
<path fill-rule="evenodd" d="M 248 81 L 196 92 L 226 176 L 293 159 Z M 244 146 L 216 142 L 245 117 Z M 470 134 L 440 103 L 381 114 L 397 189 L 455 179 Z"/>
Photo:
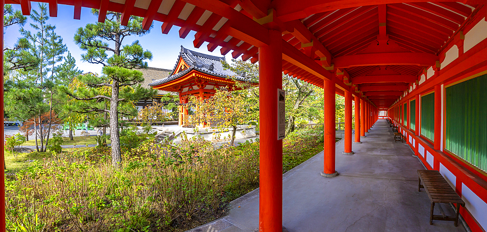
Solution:
<path fill-rule="evenodd" d="M 97 10 L 93 10 L 98 15 Z M 78 101 L 70 110 L 79 113 L 108 113 L 110 121 L 110 139 L 112 143 L 112 164 L 119 166 L 122 161 L 118 120 L 119 114 L 134 116 L 136 110 L 130 106 L 133 101 L 151 97 L 154 90 L 142 88 L 142 72 L 134 70 L 147 67 L 144 60 L 152 59 L 152 53 L 144 51 L 138 40 L 122 46 L 127 36 L 143 36 L 149 30 L 143 30 L 140 17 L 131 17 L 127 26 L 120 24 L 121 14 L 107 12 L 104 22 L 87 24 L 75 34 L 75 43 L 81 50 L 82 59 L 93 64 L 102 64 L 102 76 L 92 73 L 78 76 L 78 81 L 85 86 L 67 93 Z M 112 47 L 110 46 L 112 43 Z M 109 57 L 109 54 L 112 56 Z M 108 88 L 108 91 L 107 91 Z M 106 114 L 105 114 L 106 115 Z"/>

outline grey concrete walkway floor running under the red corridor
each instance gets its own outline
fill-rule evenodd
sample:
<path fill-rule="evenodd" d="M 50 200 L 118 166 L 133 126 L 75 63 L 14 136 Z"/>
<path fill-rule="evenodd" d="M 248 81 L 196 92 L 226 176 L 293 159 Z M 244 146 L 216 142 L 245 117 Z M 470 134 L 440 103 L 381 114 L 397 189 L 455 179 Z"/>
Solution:
<path fill-rule="evenodd" d="M 289 232 L 465 232 L 459 223 L 429 224 L 430 200 L 418 192 L 417 169 L 424 169 L 406 143 L 394 143 L 379 120 L 353 144 L 355 155 L 342 155 L 339 176 L 323 178 L 323 152 L 283 175 L 283 226 Z M 230 214 L 191 232 L 253 232 L 259 222 L 259 189 L 232 202 Z M 449 205 L 440 204 L 453 214 Z M 441 214 L 435 206 L 435 214 Z"/>

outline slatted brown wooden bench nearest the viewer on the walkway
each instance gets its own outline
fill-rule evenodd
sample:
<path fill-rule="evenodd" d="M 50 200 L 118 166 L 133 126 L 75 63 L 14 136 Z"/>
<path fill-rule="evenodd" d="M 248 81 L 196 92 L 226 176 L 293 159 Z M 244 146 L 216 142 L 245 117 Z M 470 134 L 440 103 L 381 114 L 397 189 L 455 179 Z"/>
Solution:
<path fill-rule="evenodd" d="M 421 188 L 424 188 L 430 197 L 430 225 L 433 224 L 433 220 L 443 220 L 454 221 L 455 226 L 458 226 L 460 205 L 465 207 L 465 202 L 451 188 L 450 184 L 441 176 L 440 172 L 436 170 L 418 170 L 418 181 L 418 192 L 421 192 Z M 456 215 L 454 217 L 446 216 L 443 212 L 443 215 L 433 215 L 434 203 L 456 204 Z"/>

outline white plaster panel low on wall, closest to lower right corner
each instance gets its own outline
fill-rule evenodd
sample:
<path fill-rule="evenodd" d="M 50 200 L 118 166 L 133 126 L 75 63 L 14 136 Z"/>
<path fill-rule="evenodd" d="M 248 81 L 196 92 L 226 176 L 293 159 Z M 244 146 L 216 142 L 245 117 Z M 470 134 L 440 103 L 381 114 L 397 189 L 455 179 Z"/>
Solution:
<path fill-rule="evenodd" d="M 465 208 L 475 217 L 475 220 L 483 227 L 487 228 L 487 203 L 473 193 L 465 184 L 462 183 L 462 199 L 465 201 Z"/>

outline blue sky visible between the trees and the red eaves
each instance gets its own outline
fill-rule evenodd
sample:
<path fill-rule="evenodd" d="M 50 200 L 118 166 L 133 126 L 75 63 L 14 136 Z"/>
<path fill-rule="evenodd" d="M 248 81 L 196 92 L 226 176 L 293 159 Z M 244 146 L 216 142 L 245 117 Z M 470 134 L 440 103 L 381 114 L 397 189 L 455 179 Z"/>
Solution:
<path fill-rule="evenodd" d="M 14 9 L 20 10 L 20 5 L 14 5 Z M 32 2 L 32 10 L 38 10 L 38 5 Z M 48 11 L 49 12 L 49 11 Z M 84 72 L 101 72 L 101 65 L 90 64 L 88 62 L 81 61 L 81 54 L 84 52 L 79 49 L 77 45 L 73 42 L 73 36 L 79 27 L 84 27 L 88 23 L 95 23 L 98 18 L 91 14 L 90 8 L 81 9 L 81 19 L 73 19 L 74 7 L 67 5 L 58 5 L 57 17 L 49 18 L 48 23 L 56 26 L 57 35 L 63 38 L 63 42 L 68 46 L 68 51 L 71 52 L 73 57 L 76 59 L 76 65 L 78 68 Z M 25 28 L 31 30 L 29 23 L 32 20 L 27 17 L 27 23 Z M 180 46 L 183 45 L 185 48 L 195 50 L 205 54 L 212 54 L 217 56 L 222 56 L 220 53 L 220 47 L 215 49 L 212 53 L 208 52 L 206 45 L 204 43 L 199 49 L 194 48 L 193 39 L 195 32 L 189 33 L 186 39 L 179 37 L 179 27 L 173 26 L 168 35 L 161 33 L 162 22 L 154 21 L 153 28 L 150 33 L 146 36 L 131 36 L 124 39 L 124 43 L 131 43 L 133 40 L 139 40 L 144 49 L 152 52 L 152 61 L 148 61 L 149 67 L 172 69 L 176 63 L 178 57 Z M 19 26 L 11 26 L 4 30 L 4 46 L 12 47 L 20 37 Z M 67 54 L 67 53 L 66 53 Z M 231 53 L 226 54 L 226 60 L 230 61 L 232 59 Z"/>

